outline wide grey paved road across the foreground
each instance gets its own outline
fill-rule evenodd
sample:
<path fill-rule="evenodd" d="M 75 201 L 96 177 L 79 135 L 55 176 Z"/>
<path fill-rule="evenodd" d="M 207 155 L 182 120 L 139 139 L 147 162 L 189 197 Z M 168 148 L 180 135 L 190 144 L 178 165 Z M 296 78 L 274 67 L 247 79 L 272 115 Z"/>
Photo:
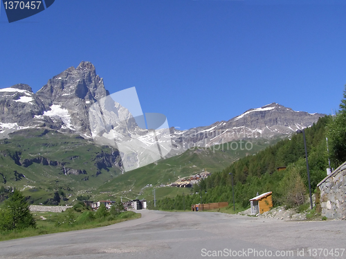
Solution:
<path fill-rule="evenodd" d="M 284 222 L 224 213 L 140 213 L 138 220 L 98 229 L 3 241 L 0 258 L 302 258 L 303 249 L 304 258 L 346 258 L 346 251 L 341 254 L 346 248 L 342 220 Z"/>

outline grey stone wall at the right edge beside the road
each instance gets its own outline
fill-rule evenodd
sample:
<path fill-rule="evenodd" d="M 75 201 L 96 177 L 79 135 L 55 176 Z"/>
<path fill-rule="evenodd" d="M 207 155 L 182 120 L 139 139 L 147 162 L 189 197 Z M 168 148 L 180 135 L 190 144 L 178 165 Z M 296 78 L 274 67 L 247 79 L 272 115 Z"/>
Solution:
<path fill-rule="evenodd" d="M 346 219 L 346 162 L 317 185 L 320 188 L 322 216 Z"/>

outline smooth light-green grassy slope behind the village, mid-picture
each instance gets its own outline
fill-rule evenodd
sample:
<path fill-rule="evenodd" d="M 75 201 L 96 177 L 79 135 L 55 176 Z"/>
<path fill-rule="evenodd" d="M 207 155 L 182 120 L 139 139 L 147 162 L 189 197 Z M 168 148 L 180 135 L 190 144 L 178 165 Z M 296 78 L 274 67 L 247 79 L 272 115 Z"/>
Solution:
<path fill-rule="evenodd" d="M 240 145 L 239 149 L 232 150 L 229 148 L 228 143 L 211 148 L 187 150 L 176 157 L 158 161 L 143 168 L 126 172 L 124 175 L 119 175 L 107 184 L 100 186 L 98 190 L 109 191 L 114 195 L 127 197 L 128 199 L 152 199 L 154 187 L 169 184 L 179 179 L 179 177 L 195 175 L 202 172 L 203 169 L 208 172 L 217 172 L 226 168 L 226 166 L 230 166 L 237 159 L 246 157 L 249 154 L 255 154 L 277 141 L 278 139 L 252 141 L 253 148 L 251 150 L 246 150 L 244 147 L 240 150 Z M 148 185 L 152 185 L 152 187 Z M 189 188 L 184 189 L 176 187 L 156 188 L 156 197 L 174 197 L 176 194 L 183 192 L 190 193 Z"/>

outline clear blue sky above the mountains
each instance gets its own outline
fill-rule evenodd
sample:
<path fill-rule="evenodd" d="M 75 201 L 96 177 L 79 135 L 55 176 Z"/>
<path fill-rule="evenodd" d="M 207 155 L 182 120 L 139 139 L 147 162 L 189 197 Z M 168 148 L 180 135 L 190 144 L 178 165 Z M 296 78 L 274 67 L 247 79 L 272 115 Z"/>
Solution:
<path fill-rule="evenodd" d="M 62 0 L 8 24 L 0 88 L 39 90 L 92 62 L 110 93 L 136 87 L 144 112 L 188 129 L 278 102 L 331 114 L 346 84 L 343 1 Z"/>

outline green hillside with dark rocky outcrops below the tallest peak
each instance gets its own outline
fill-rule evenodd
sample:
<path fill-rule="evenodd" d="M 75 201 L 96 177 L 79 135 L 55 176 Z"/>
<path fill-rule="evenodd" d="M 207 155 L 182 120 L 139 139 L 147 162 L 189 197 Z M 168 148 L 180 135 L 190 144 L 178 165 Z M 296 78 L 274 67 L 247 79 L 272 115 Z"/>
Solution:
<path fill-rule="evenodd" d="M 24 190 L 35 204 L 49 204 L 57 190 L 71 202 L 120 172 L 110 148 L 75 134 L 23 130 L 0 143 L 0 183 Z"/>

